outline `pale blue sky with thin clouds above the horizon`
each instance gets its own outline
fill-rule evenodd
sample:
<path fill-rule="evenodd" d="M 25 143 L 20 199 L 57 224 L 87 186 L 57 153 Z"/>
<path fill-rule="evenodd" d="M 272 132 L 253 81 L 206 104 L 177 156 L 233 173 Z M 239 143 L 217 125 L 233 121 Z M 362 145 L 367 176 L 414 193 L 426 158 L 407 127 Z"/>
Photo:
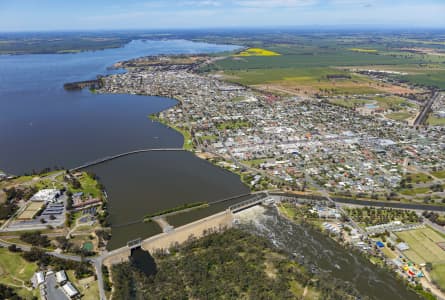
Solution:
<path fill-rule="evenodd" d="M 310 26 L 445 29 L 445 0 L 0 0 L 0 31 Z"/>

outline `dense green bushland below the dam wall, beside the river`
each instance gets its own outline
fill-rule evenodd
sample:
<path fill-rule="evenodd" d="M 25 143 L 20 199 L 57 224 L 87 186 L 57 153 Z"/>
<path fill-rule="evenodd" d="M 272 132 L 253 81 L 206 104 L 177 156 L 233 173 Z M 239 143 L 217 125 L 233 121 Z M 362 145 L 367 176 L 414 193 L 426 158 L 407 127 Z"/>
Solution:
<path fill-rule="evenodd" d="M 156 261 L 158 271 L 152 276 L 132 262 L 114 266 L 114 298 L 298 299 L 304 287 L 321 299 L 357 295 L 352 285 L 331 276 L 315 278 L 266 239 L 237 229 L 158 253 Z"/>

